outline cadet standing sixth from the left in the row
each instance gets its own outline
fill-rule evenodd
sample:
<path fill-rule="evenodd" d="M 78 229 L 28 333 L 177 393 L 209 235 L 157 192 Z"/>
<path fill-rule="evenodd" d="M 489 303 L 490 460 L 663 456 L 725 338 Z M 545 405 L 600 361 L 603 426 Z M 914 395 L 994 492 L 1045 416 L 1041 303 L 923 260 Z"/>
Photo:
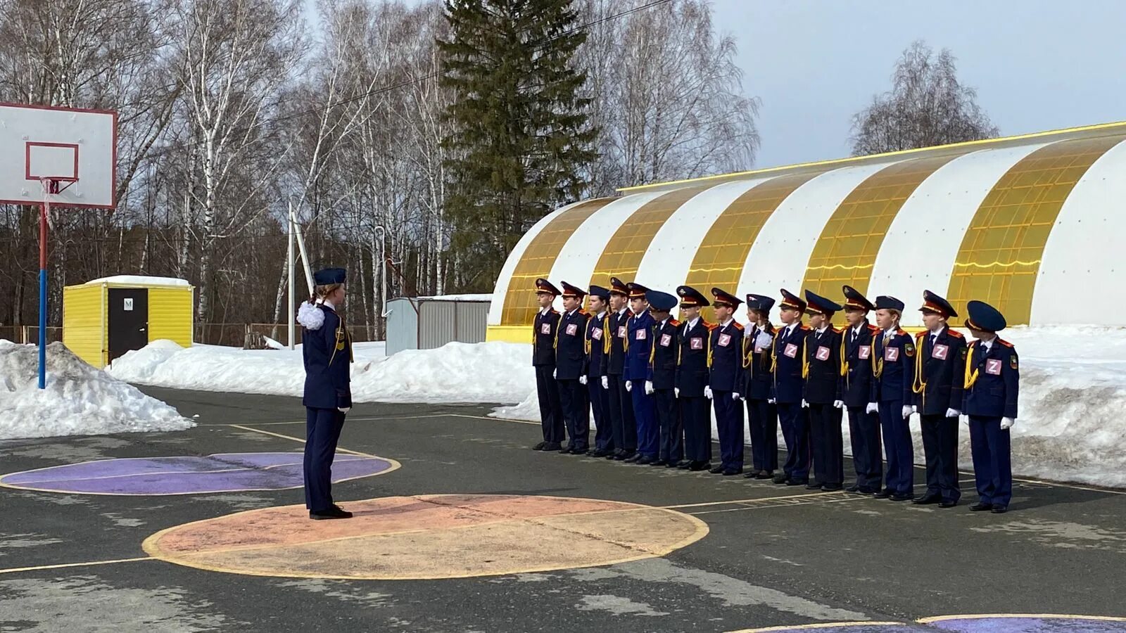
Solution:
<path fill-rule="evenodd" d="M 645 293 L 649 311 L 656 324 L 653 327 L 653 347 L 650 371 L 653 380 L 645 383 L 645 393 L 653 396 L 656 413 L 658 458 L 654 466 L 676 467 L 685 456 L 683 428 L 677 407 L 677 354 L 680 351 L 680 322 L 669 313 L 677 305 L 677 297 L 669 293 Z"/>

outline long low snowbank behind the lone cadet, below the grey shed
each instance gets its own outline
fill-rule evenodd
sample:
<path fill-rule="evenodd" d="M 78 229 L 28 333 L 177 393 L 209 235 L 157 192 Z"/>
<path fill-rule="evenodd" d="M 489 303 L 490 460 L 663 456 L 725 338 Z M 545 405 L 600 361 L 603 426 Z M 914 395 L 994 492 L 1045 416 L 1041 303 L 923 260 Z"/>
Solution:
<path fill-rule="evenodd" d="M 450 342 L 385 356 L 383 342 L 355 346 L 355 402 L 517 402 L 535 391 L 531 346 Z M 301 348 L 243 350 L 154 341 L 114 362 L 114 377 L 141 384 L 301 396 Z"/>

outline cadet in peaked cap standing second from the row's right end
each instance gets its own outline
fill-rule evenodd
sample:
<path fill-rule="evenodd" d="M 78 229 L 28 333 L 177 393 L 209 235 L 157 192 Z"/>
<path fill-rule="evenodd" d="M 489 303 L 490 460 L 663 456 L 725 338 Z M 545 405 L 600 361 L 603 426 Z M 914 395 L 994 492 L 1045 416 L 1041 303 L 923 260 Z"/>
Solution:
<path fill-rule="evenodd" d="M 913 412 L 922 422 L 922 447 L 927 455 L 927 491 L 914 503 L 958 505 L 958 416 L 965 381 L 966 339 L 950 329 L 947 319 L 958 313 L 945 298 L 923 291 L 922 322 L 926 332 L 915 336 L 915 376 L 911 386 Z"/>

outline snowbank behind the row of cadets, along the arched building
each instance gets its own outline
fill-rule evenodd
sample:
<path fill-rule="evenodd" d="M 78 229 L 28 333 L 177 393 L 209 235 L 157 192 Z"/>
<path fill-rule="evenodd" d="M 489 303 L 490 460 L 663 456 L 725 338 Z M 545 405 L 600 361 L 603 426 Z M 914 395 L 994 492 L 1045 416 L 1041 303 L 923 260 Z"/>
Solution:
<path fill-rule="evenodd" d="M 968 332 L 962 330 L 967 336 Z M 1022 476 L 1126 488 L 1126 329 L 1096 326 L 1018 327 L 1003 339 L 1020 356 L 1019 417 L 1012 469 Z M 539 420 L 535 390 L 491 416 Z M 593 425 L 592 425 L 593 427 Z M 848 419 L 842 424 L 850 454 Z M 919 417 L 911 419 L 915 462 L 924 463 Z M 712 437 L 718 438 L 715 418 Z M 750 438 L 750 434 L 744 435 Z M 973 470 L 969 430 L 959 426 L 958 465 Z M 778 446 L 786 444 L 778 434 Z M 750 467 L 750 453 L 745 454 Z M 849 473 L 846 473 L 848 479 Z M 972 489 L 972 485 L 971 485 Z"/>

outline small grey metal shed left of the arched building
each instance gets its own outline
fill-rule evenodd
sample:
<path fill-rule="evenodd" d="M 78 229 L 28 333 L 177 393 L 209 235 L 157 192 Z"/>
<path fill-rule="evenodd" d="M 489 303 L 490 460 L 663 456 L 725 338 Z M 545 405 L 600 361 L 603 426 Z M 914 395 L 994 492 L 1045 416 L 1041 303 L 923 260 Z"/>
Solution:
<path fill-rule="evenodd" d="M 387 302 L 387 356 L 447 342 L 484 342 L 491 294 L 397 297 Z"/>

